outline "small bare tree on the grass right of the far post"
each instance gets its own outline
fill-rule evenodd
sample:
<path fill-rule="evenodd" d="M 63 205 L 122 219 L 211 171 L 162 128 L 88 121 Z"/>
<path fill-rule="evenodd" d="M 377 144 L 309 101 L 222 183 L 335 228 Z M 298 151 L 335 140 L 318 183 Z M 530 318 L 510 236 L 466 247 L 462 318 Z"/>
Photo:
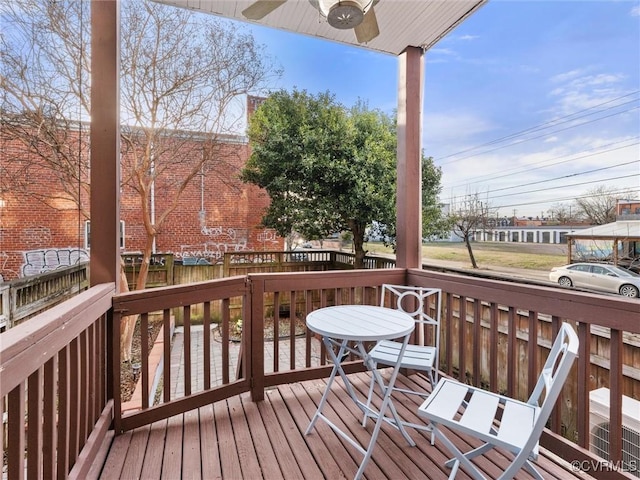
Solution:
<path fill-rule="evenodd" d="M 490 229 L 489 219 L 495 216 L 495 212 L 491 211 L 488 202 L 480 200 L 478 193 L 473 193 L 467 195 L 461 201 L 454 202 L 449 215 L 453 225 L 453 232 L 462 238 L 467 247 L 471 266 L 478 268 L 471 241 L 475 239 L 478 233 L 484 233 Z"/>

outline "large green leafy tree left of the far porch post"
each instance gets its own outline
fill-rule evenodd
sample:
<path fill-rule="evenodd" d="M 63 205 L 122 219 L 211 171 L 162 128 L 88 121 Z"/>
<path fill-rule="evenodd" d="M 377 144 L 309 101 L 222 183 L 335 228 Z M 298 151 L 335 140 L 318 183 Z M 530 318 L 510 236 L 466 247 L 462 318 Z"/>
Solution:
<path fill-rule="evenodd" d="M 256 111 L 248 133 L 242 178 L 271 198 L 264 225 L 307 238 L 349 231 L 362 268 L 367 231 L 395 224 L 393 119 L 364 102 L 347 110 L 329 93 L 280 91 Z"/>

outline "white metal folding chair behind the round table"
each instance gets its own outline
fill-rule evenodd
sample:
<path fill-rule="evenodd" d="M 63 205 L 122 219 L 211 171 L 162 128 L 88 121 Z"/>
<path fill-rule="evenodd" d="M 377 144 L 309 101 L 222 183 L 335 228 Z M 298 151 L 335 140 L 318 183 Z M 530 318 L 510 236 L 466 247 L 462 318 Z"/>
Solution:
<path fill-rule="evenodd" d="M 402 356 L 400 368 L 418 370 L 427 374 L 431 387 L 438 380 L 438 350 L 440 348 L 440 312 L 442 290 L 439 288 L 409 287 L 405 285 L 382 285 L 381 306 L 390 306 L 411 315 L 416 321 L 416 343 L 409 344 Z M 378 364 L 396 365 L 402 343 L 393 340 L 378 342 L 369 352 L 369 357 L 377 368 Z M 374 381 L 371 380 L 367 405 L 373 397 Z M 427 397 L 426 391 L 407 390 L 394 387 L 394 391 Z M 367 423 L 365 414 L 362 425 Z M 405 426 L 420 430 L 430 430 L 429 426 L 403 422 Z"/>

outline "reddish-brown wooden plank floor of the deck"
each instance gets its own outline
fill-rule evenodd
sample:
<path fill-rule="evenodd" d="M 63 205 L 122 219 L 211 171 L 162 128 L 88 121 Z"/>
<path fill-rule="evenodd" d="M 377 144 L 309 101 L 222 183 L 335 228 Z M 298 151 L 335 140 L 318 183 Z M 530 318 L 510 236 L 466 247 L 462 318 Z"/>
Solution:
<path fill-rule="evenodd" d="M 350 377 L 365 392 L 368 376 Z M 139 428 L 116 437 L 100 478 L 103 479 L 351 479 L 362 455 L 337 436 L 327 424 L 318 421 L 304 435 L 320 401 L 325 380 L 282 385 L 266 392 L 265 401 L 251 402 L 248 395 L 233 397 L 214 405 L 190 411 L 169 420 Z M 428 383 L 418 375 L 398 377 L 397 385 L 420 390 Z M 362 444 L 373 429 L 369 421 L 361 426 L 361 412 L 351 402 L 341 380 L 332 387 L 325 414 L 351 432 Z M 416 411 L 421 403 L 415 395 L 394 394 L 395 405 L 407 421 L 422 423 Z M 428 433 L 410 430 L 416 447 L 410 447 L 394 428 L 382 428 L 367 479 L 444 479 L 449 455 L 442 445 L 430 445 Z M 451 437 L 459 445 L 462 437 Z M 475 445 L 475 443 L 474 443 Z M 508 454 L 492 452 L 481 467 L 487 477 L 499 475 L 508 463 Z M 544 478 L 585 478 L 560 465 L 544 450 L 537 466 Z M 459 479 L 467 479 L 459 471 Z M 521 471 L 518 479 L 532 478 Z"/>

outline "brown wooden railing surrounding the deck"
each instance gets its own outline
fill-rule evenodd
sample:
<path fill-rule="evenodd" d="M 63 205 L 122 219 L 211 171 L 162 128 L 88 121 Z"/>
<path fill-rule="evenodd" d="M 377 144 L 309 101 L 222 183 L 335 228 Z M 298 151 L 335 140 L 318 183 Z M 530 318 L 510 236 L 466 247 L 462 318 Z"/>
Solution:
<path fill-rule="evenodd" d="M 9 418 L 9 435 L 2 435 L 7 468 L 14 473 L 24 469 L 24 452 L 27 467 L 43 463 L 47 471 L 64 471 L 74 463 L 82 464 L 83 458 L 97 456 L 94 438 L 105 437 L 100 433 L 105 428 L 101 419 L 111 418 L 111 412 L 117 434 L 241 392 L 251 392 L 254 400 L 260 400 L 269 386 L 325 377 L 331 365 L 318 339 L 309 332 L 300 336 L 295 328 L 297 322 L 289 320 L 282 327 L 280 320 L 286 317 L 302 322 L 308 312 L 323 306 L 376 304 L 382 283 L 442 288 L 441 369 L 463 381 L 513 396 L 527 395 L 560 323 L 571 322 L 580 336 L 580 358 L 545 431 L 543 445 L 569 461 L 593 460 L 586 450 L 590 435 L 589 391 L 605 386 L 610 389 L 611 407 L 608 460 L 620 465 L 622 396 L 639 396 L 640 309 L 636 299 L 419 269 L 381 269 L 250 274 L 120 294 L 113 299 L 109 286 L 96 287 L 77 300 L 56 307 L 59 310 L 53 316 L 38 317 L 36 337 L 31 337 L 31 330 L 20 328 L 27 324 L 13 329 L 9 333 L 14 336 L 6 337 L 10 338 L 9 343 L 3 336 L 0 350 L 2 399 Z M 109 311 L 105 303 L 111 301 L 113 310 Z M 170 338 L 176 312 L 182 317 L 179 335 L 183 358 L 173 366 L 175 352 Z M 105 313 L 113 314 L 109 329 L 109 315 Z M 113 339 L 119 338 L 121 318 L 131 315 L 139 315 L 142 332 L 143 394 L 136 408 L 123 411 L 123 363 L 120 344 Z M 242 335 L 241 342 L 236 343 L 232 340 L 239 321 Z M 152 345 L 142 340 L 155 322 L 162 324 L 166 339 L 157 362 L 163 377 L 159 398 L 154 398 L 151 390 L 155 374 L 154 363 L 149 360 L 153 358 Z M 265 339 L 267 324 L 271 325 L 272 338 L 284 339 Z M 221 358 L 214 359 L 213 342 L 218 341 Z M 627 353 L 629 345 L 636 350 Z M 111 351 L 113 357 L 107 361 Z M 21 362 L 24 358 L 30 360 Z M 76 359 L 80 360 L 78 366 L 74 366 Z M 347 369 L 360 370 L 361 362 L 347 364 Z M 56 377 L 57 390 L 51 393 L 48 385 L 53 372 L 61 373 Z M 94 378 L 89 372 L 96 372 L 99 379 L 89 381 Z M 76 377 L 79 380 L 74 380 Z M 101 385 L 109 380 L 107 390 Z M 181 388 L 173 388 L 175 385 Z M 85 391 L 91 401 L 82 397 Z M 79 403 L 73 403 L 76 400 L 70 392 L 82 394 Z M 54 407 L 56 402 L 61 406 Z M 61 426 L 45 421 L 41 428 L 33 429 L 31 420 L 27 429 L 29 419 L 56 418 L 44 415 L 38 408 L 45 412 L 62 408 L 57 412 Z M 32 433 L 34 430 L 39 433 Z M 18 439 L 17 444 L 14 438 Z M 92 450 L 86 453 L 87 448 Z M 81 468 L 87 467 L 76 466 L 76 471 Z M 604 468 L 591 473 L 602 474 L 603 478 L 624 478 L 619 472 Z"/>

